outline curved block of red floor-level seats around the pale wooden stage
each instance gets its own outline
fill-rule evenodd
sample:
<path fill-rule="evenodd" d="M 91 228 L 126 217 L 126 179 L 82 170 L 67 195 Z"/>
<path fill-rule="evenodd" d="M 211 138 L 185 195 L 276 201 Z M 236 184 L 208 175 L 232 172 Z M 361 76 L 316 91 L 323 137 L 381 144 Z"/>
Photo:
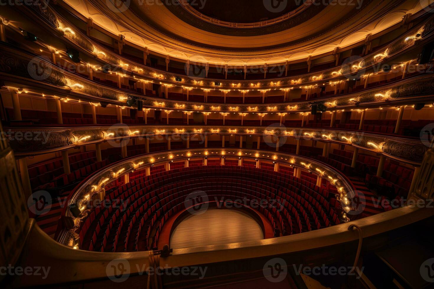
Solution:
<path fill-rule="evenodd" d="M 256 187 L 260 191 L 256 191 Z M 159 232 L 155 227 L 161 229 L 164 221 L 182 207 L 186 195 L 198 189 L 210 197 L 228 197 L 228 192 L 232 192 L 230 197 L 281 200 L 282 210 L 270 209 L 273 216 L 270 222 L 275 231 L 282 234 L 339 223 L 336 208 L 326 199 L 328 192 L 305 180 L 250 167 L 194 166 L 135 179 L 109 192 L 106 201 L 111 205 L 92 210 L 82 225 L 83 248 L 137 250 L 139 240 L 144 238 L 142 235 L 148 245 L 145 248 L 153 246 Z M 295 190 L 298 192 L 294 193 Z M 120 206 L 119 200 L 124 200 Z M 113 205 L 118 208 L 113 209 Z M 98 220 L 96 224 L 95 220 Z M 131 239 L 132 235 L 135 238 Z"/>

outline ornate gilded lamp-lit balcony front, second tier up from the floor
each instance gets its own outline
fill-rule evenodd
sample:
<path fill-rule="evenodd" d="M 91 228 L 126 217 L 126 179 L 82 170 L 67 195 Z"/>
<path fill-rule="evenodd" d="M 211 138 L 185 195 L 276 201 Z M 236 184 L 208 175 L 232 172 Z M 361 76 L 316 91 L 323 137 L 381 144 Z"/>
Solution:
<path fill-rule="evenodd" d="M 379 134 L 350 132 L 345 130 L 316 129 L 300 127 L 230 127 L 230 126 L 177 126 L 143 125 L 127 126 L 116 124 L 110 127 L 76 128 L 11 128 L 7 137 L 16 156 L 36 156 L 53 153 L 78 146 L 86 146 L 105 141 L 120 143 L 130 138 L 161 138 L 171 135 L 206 135 L 237 134 L 240 136 L 272 137 L 274 142 L 280 138 L 318 140 L 326 143 L 338 143 L 354 146 L 400 162 L 420 166 L 424 153 L 428 149 L 419 140 Z"/>

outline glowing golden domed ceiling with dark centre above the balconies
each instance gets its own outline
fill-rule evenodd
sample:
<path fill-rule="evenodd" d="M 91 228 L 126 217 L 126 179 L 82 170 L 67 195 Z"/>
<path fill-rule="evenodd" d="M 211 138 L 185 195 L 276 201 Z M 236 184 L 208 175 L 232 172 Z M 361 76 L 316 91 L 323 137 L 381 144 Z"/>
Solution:
<path fill-rule="evenodd" d="M 264 65 L 332 53 L 425 0 L 64 0 L 84 19 L 172 59 Z M 113 5 L 115 3 L 116 5 Z"/>

